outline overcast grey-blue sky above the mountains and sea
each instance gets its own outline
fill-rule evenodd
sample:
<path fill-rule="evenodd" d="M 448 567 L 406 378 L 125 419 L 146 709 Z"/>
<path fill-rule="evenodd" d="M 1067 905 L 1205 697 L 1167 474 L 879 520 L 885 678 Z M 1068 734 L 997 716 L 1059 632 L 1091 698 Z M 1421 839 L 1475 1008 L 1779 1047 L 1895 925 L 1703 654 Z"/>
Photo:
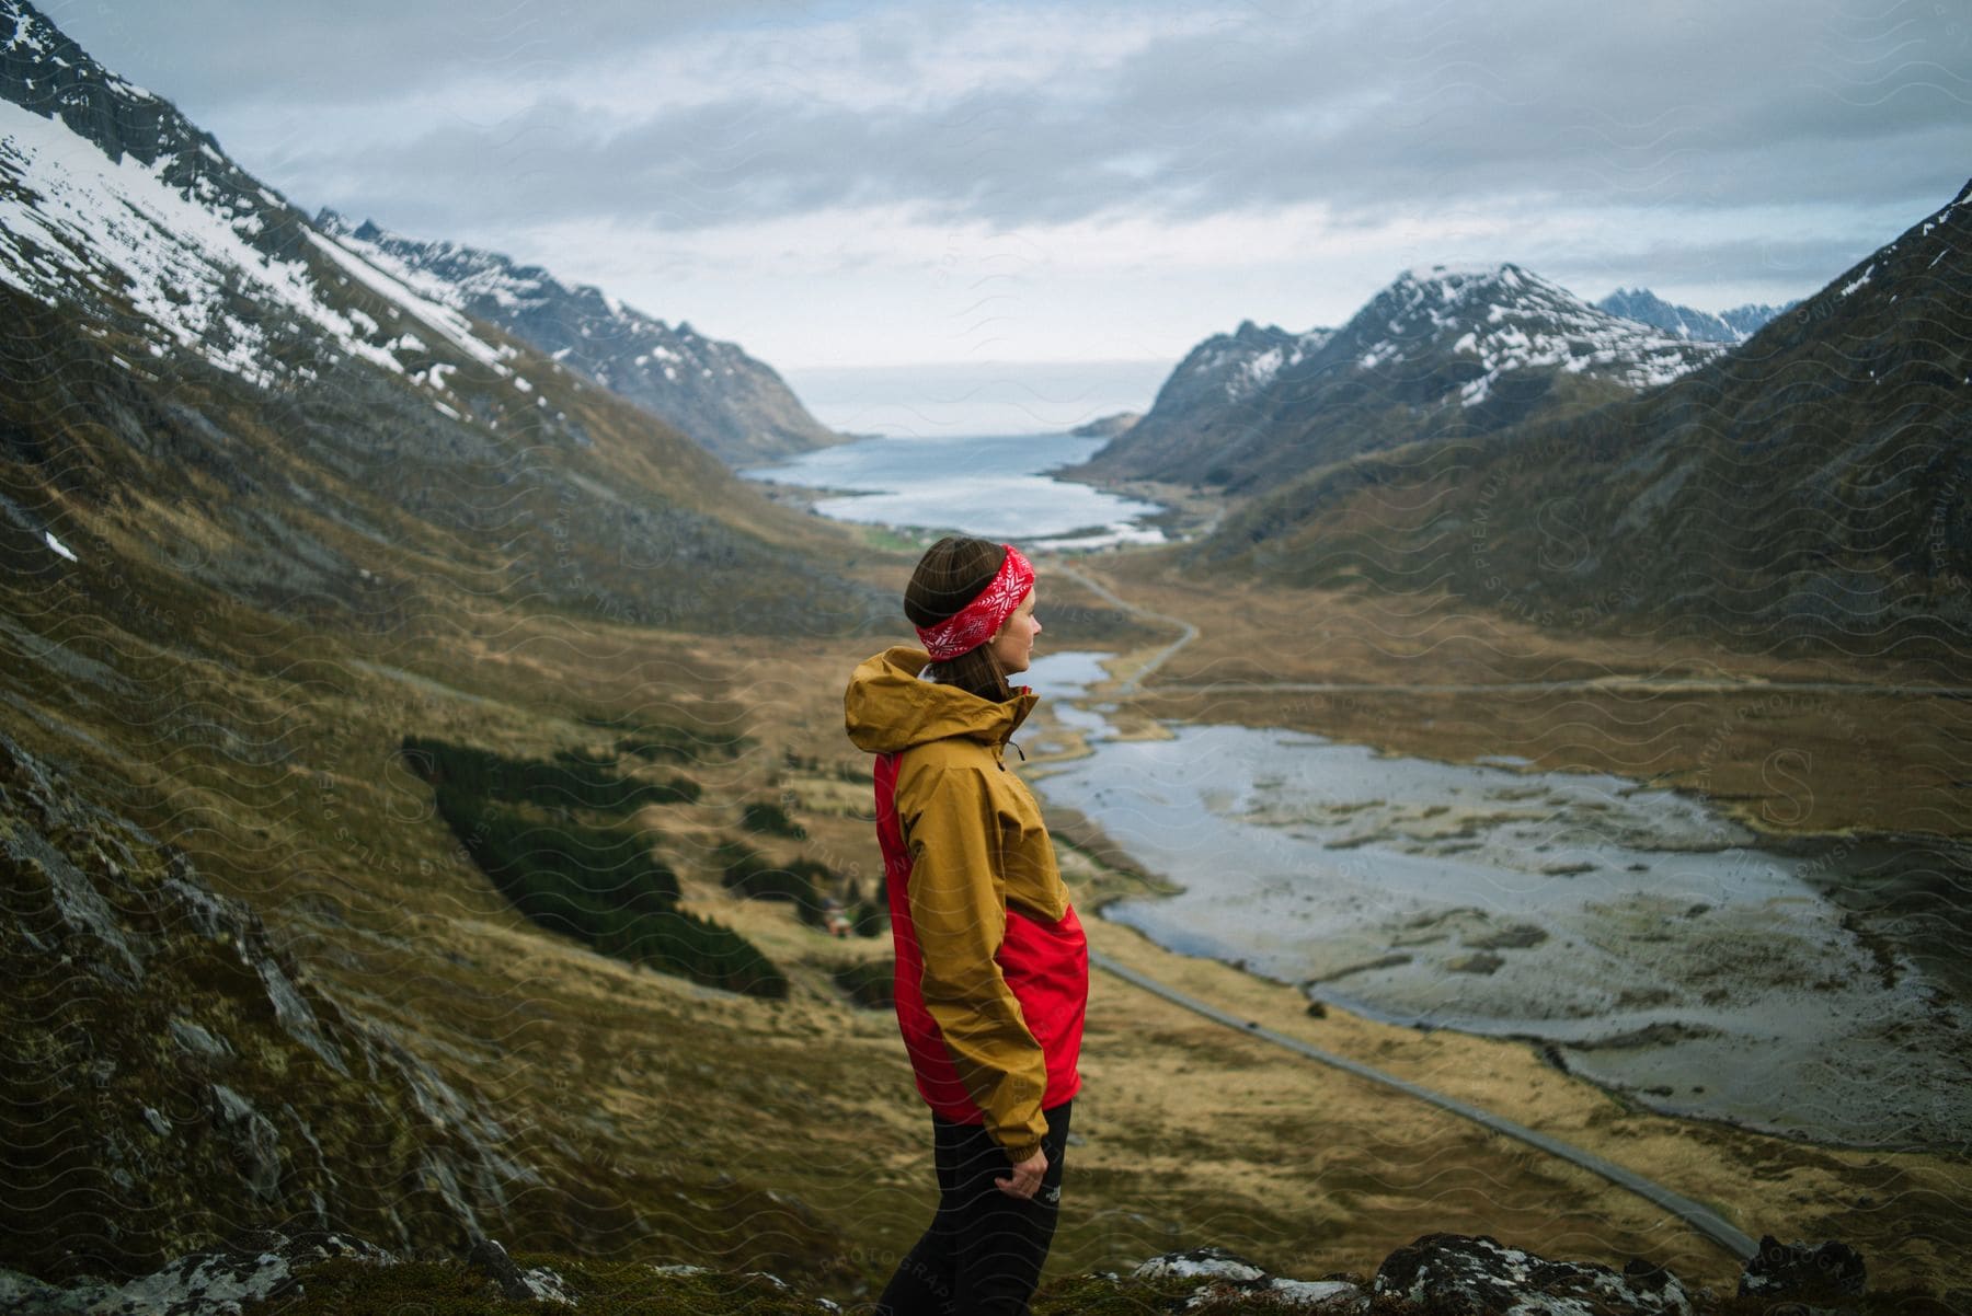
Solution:
<path fill-rule="evenodd" d="M 1154 388 L 1209 333 L 1339 323 L 1434 262 L 1781 301 L 1972 173 L 1958 2 L 43 8 L 304 209 L 812 380 L 1106 361 Z"/>

